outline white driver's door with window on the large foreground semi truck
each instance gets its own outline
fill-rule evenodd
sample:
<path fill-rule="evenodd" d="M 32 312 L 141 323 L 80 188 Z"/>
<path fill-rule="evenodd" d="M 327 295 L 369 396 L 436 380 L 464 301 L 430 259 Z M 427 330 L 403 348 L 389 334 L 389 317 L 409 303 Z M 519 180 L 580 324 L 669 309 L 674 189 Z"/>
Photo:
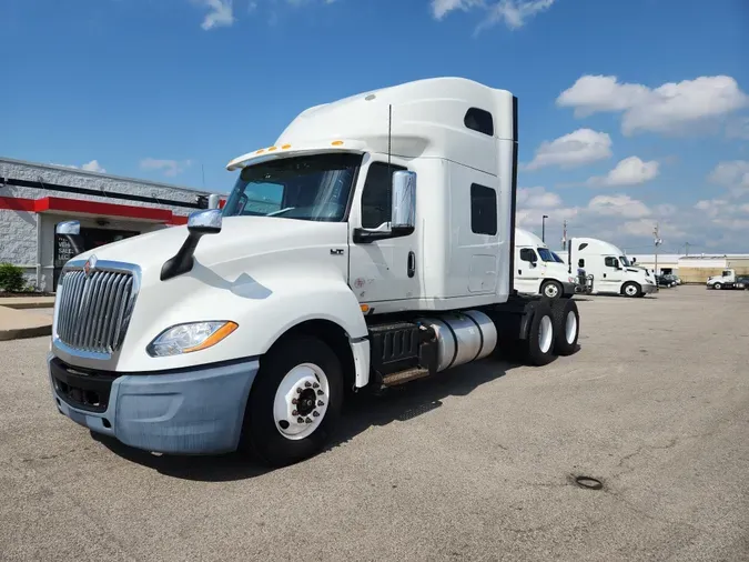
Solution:
<path fill-rule="evenodd" d="M 352 208 L 352 224 L 361 223 L 362 228 L 376 230 L 389 222 L 393 173 L 398 170 L 407 168 L 373 161 L 362 170 L 362 174 L 365 174 L 364 185 L 361 200 L 355 200 Z M 353 232 L 353 228 L 351 230 Z M 421 297 L 418 230 L 407 237 L 366 243 L 356 243 L 353 238 L 351 240 L 348 285 L 360 302 L 372 305 Z"/>

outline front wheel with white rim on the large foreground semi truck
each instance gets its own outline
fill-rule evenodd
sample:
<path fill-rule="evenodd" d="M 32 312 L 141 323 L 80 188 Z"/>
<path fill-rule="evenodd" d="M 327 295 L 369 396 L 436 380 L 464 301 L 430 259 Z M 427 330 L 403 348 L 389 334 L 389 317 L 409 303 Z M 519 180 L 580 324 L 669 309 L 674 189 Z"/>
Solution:
<path fill-rule="evenodd" d="M 244 415 L 243 445 L 271 466 L 317 454 L 343 404 L 341 362 L 321 340 L 296 337 L 261 358 Z"/>

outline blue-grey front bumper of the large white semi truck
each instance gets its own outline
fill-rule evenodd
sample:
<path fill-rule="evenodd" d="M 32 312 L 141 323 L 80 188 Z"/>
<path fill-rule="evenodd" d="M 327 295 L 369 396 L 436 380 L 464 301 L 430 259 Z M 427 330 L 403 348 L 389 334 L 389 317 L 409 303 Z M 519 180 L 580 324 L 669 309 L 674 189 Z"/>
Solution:
<path fill-rule="evenodd" d="M 52 394 L 74 422 L 152 452 L 236 450 L 257 359 L 159 374 L 95 373 L 48 357 Z"/>

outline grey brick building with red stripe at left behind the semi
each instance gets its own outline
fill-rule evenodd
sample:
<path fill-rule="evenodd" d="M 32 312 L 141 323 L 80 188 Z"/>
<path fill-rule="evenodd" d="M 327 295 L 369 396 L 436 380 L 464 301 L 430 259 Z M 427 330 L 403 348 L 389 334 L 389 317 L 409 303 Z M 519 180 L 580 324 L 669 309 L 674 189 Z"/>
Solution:
<path fill-rule="evenodd" d="M 24 269 L 29 284 L 53 291 L 67 244 L 54 233 L 75 219 L 87 250 L 184 224 L 210 193 L 74 168 L 0 158 L 0 263 Z"/>

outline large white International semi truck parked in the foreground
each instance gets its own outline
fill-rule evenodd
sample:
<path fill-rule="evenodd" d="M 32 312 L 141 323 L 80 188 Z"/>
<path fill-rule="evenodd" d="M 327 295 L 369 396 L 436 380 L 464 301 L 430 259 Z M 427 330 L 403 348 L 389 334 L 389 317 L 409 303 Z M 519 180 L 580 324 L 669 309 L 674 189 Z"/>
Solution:
<path fill-rule="evenodd" d="M 229 162 L 222 210 L 65 264 L 57 407 L 134 448 L 284 465 L 325 445 L 353 392 L 495 350 L 574 353 L 575 302 L 514 289 L 517 150 L 517 99 L 465 79 L 302 112 Z"/>

